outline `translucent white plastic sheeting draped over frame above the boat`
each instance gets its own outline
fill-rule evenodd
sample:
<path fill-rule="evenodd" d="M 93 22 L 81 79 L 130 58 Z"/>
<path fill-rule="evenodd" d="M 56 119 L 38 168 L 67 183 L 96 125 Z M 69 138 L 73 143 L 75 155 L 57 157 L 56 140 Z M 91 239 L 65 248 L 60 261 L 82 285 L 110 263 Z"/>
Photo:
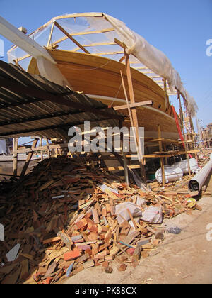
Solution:
<path fill-rule="evenodd" d="M 52 32 L 52 24 L 55 21 L 78 43 L 88 47 L 90 54 L 98 54 L 119 61 L 123 56 L 123 49 L 114 43 L 114 38 L 117 38 L 126 45 L 126 52 L 131 54 L 130 60 L 134 62 L 134 68 L 139 70 L 144 65 L 156 75 L 167 79 L 170 91 L 174 92 L 176 89 L 182 94 L 187 101 L 188 110 L 194 116 L 198 109 L 196 102 L 184 89 L 179 73 L 172 67 L 170 60 L 141 35 L 131 31 L 125 23 L 105 13 L 73 13 L 52 18 L 51 21 L 29 35 L 42 46 L 52 44 L 57 45 L 61 50 L 73 50 L 74 52 L 82 52 L 82 50 L 77 48 L 76 44 L 72 43 L 67 36 L 64 37 L 64 33 L 59 31 L 56 26 Z M 95 33 L 96 31 L 101 31 L 101 33 Z M 108 55 L 108 50 L 117 55 Z M 107 53 L 106 56 L 105 53 Z M 8 51 L 8 60 L 14 62 L 14 59 L 20 58 L 18 60 L 20 66 L 27 70 L 30 62 L 30 57 L 27 57 L 27 54 L 15 46 Z M 142 70 L 139 71 L 142 72 Z"/>

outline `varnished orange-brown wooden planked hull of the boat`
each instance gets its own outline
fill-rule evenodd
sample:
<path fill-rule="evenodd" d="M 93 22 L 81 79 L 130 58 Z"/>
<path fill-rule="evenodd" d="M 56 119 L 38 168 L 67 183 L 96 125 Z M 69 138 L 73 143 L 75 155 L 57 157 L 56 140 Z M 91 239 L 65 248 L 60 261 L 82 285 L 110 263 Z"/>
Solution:
<path fill-rule="evenodd" d="M 49 50 L 49 53 L 57 62 L 57 67 L 69 81 L 73 90 L 82 91 L 85 94 L 95 94 L 95 99 L 107 105 L 111 105 L 113 99 L 102 99 L 101 96 L 125 101 L 120 76 L 120 70 L 123 74 L 126 74 L 123 63 L 105 57 L 65 50 Z M 31 60 L 28 72 L 39 74 L 35 59 Z M 165 107 L 165 92 L 163 89 L 152 79 L 133 68 L 131 68 L 131 76 L 136 102 L 153 101 L 151 109 L 146 107 L 137 108 L 139 126 L 145 128 L 146 134 L 153 136 L 158 131 L 158 124 L 160 124 L 162 135 L 167 138 L 179 138 L 171 106 L 169 104 L 167 109 Z M 127 86 L 126 75 L 124 75 L 124 82 Z M 113 101 L 113 106 L 117 105 L 120 105 L 120 103 Z M 128 115 L 127 110 L 119 112 Z M 130 126 L 130 123 L 126 121 L 124 125 Z"/>

